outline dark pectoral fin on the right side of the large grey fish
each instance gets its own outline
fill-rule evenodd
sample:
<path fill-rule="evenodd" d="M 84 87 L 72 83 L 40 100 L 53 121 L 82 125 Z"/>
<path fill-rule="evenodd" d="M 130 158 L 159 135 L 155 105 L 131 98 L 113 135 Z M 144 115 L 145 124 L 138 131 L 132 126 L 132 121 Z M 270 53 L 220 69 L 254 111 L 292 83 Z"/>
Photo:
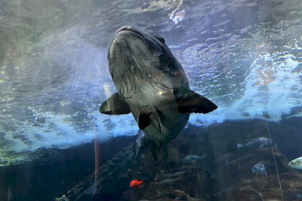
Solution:
<path fill-rule="evenodd" d="M 176 104 L 179 113 L 209 113 L 217 108 L 209 99 L 195 93 L 190 89 L 182 89 L 183 94 L 174 90 Z M 179 96 L 181 95 L 181 96 Z"/>

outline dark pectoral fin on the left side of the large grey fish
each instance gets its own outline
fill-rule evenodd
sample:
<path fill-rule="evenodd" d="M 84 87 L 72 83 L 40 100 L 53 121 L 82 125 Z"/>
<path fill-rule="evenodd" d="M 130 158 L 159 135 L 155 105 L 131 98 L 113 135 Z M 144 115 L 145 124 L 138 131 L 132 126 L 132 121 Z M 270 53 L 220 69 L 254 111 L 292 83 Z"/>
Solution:
<path fill-rule="evenodd" d="M 100 113 L 106 115 L 125 115 L 131 113 L 128 104 L 121 98 L 118 93 L 111 95 L 102 103 Z"/>

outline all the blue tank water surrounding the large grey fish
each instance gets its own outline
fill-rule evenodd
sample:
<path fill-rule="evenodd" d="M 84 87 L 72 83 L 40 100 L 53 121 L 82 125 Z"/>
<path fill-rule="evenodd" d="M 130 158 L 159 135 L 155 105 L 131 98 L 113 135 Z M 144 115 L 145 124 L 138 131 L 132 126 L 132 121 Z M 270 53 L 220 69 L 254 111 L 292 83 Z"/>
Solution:
<path fill-rule="evenodd" d="M 99 113 L 125 25 L 162 36 L 218 107 L 158 161 L 133 163 L 131 114 Z M 2 0 L 0 103 L 0 200 L 301 200 L 302 2 Z"/>

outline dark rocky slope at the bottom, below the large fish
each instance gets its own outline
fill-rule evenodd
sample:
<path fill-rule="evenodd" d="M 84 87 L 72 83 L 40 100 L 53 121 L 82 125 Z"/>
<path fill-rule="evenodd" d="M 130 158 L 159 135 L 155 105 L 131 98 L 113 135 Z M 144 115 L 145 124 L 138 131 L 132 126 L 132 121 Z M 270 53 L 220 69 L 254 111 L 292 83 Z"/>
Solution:
<path fill-rule="evenodd" d="M 283 127 L 269 126 L 283 199 L 302 200 L 302 173 L 288 167 L 292 158 L 287 159 L 275 143 Z M 299 125 L 285 122 L 283 126 L 289 129 Z M 257 137 L 268 137 L 265 121 L 188 126 L 162 148 L 157 161 L 146 147 L 137 163 L 133 163 L 130 144 L 101 166 L 97 189 L 91 190 L 95 182 L 92 173 L 56 200 L 282 200 L 271 145 L 237 147 Z M 282 149 L 286 143 L 290 145 L 283 142 Z M 267 175 L 252 172 L 257 163 L 265 164 Z M 142 179 L 144 184 L 130 188 L 133 179 Z"/>

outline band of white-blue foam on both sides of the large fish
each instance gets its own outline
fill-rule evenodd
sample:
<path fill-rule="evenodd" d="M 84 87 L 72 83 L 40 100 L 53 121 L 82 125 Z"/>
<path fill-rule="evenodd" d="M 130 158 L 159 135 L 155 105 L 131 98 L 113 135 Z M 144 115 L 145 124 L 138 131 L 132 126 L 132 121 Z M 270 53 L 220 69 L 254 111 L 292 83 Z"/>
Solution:
<path fill-rule="evenodd" d="M 280 121 L 282 115 L 291 115 L 288 118 L 301 116 L 302 112 L 290 114 L 292 108 L 302 107 L 302 75 L 298 69 L 300 65 L 301 62 L 295 60 L 294 55 L 288 52 L 259 55 L 250 66 L 241 97 L 229 105 L 215 102 L 217 110 L 206 115 L 192 114 L 189 123 L 195 126 L 209 126 L 227 120 L 264 119 L 264 111 L 270 117 L 269 121 Z M 41 147 L 63 149 L 91 142 L 95 134 L 100 140 L 106 140 L 110 137 L 136 135 L 138 130 L 131 114 L 108 116 L 92 110 L 88 116 L 93 117 L 94 120 L 90 123 L 94 126 L 83 129 L 81 126 L 75 126 L 75 123 L 79 125 L 79 122 L 74 122 L 72 115 L 45 112 L 35 108 L 29 110 L 33 112 L 35 121 L 24 122 L 15 131 L 8 131 L 5 135 L 5 140 L 13 143 L 11 150 L 16 152 L 35 151 Z M 39 119 L 45 119 L 45 122 L 39 123 Z M 16 138 L 18 135 L 28 140 Z"/>

